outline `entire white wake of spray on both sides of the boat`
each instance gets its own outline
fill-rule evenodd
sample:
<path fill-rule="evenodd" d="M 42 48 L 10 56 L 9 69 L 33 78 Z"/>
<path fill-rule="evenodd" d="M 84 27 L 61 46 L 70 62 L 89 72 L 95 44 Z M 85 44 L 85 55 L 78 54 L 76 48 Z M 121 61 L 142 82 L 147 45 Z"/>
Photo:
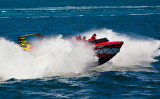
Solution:
<path fill-rule="evenodd" d="M 97 34 L 97 38 L 124 41 L 120 52 L 100 66 L 100 72 L 152 67 L 151 63 L 157 61 L 155 57 L 160 55 L 159 40 L 137 39 L 108 29 L 92 30 L 81 35 L 90 38 L 93 33 Z M 93 48 L 86 47 L 82 42 L 62 39 L 62 36 L 34 41 L 33 44 L 36 48 L 26 52 L 16 43 L 0 38 L 0 80 L 74 76 L 88 72 L 91 69 L 89 64 L 97 61 Z"/>

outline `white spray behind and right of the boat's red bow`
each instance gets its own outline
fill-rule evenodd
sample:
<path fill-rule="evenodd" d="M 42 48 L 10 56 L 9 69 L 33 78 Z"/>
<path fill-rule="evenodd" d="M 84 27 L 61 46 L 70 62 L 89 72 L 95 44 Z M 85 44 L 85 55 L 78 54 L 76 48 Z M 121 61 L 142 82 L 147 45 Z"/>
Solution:
<path fill-rule="evenodd" d="M 93 33 L 97 34 L 97 38 L 107 37 L 110 41 L 124 41 L 120 52 L 103 65 L 107 70 L 115 67 L 150 67 L 150 64 L 156 61 L 155 57 L 160 55 L 159 40 L 131 37 L 109 29 L 92 30 L 83 35 L 89 38 Z"/>

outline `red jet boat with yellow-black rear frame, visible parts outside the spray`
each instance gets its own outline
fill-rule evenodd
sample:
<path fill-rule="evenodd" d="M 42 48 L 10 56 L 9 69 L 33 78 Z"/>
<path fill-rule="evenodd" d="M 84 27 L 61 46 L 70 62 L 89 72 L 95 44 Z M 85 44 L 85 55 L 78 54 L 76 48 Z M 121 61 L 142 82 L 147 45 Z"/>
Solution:
<path fill-rule="evenodd" d="M 40 34 L 30 34 L 18 37 L 19 46 L 25 51 L 31 51 L 32 45 L 25 39 L 26 37 L 36 36 L 38 39 L 43 39 L 44 36 Z M 98 57 L 98 62 L 94 63 L 94 66 L 99 66 L 110 59 L 112 59 L 123 45 L 123 41 L 109 41 L 107 38 L 96 39 L 88 42 L 90 46 L 94 47 L 95 55 Z"/>

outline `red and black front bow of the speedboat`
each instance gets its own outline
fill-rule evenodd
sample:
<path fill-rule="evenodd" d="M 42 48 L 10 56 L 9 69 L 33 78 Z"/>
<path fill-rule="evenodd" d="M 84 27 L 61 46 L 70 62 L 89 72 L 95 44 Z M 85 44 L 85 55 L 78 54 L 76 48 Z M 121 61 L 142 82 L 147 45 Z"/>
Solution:
<path fill-rule="evenodd" d="M 91 42 L 94 46 L 95 54 L 98 57 L 98 64 L 102 65 L 112 59 L 123 45 L 123 41 L 109 41 L 107 38 L 96 39 Z"/>

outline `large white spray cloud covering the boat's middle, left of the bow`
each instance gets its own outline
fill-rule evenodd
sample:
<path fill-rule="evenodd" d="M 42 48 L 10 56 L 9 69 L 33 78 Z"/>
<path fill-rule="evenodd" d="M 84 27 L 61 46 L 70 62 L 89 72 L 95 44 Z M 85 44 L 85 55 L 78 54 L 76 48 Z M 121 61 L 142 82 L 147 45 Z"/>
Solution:
<path fill-rule="evenodd" d="M 49 38 L 36 44 L 32 52 L 0 39 L 0 80 L 65 76 L 87 71 L 95 61 L 94 51 L 82 42 Z"/>

